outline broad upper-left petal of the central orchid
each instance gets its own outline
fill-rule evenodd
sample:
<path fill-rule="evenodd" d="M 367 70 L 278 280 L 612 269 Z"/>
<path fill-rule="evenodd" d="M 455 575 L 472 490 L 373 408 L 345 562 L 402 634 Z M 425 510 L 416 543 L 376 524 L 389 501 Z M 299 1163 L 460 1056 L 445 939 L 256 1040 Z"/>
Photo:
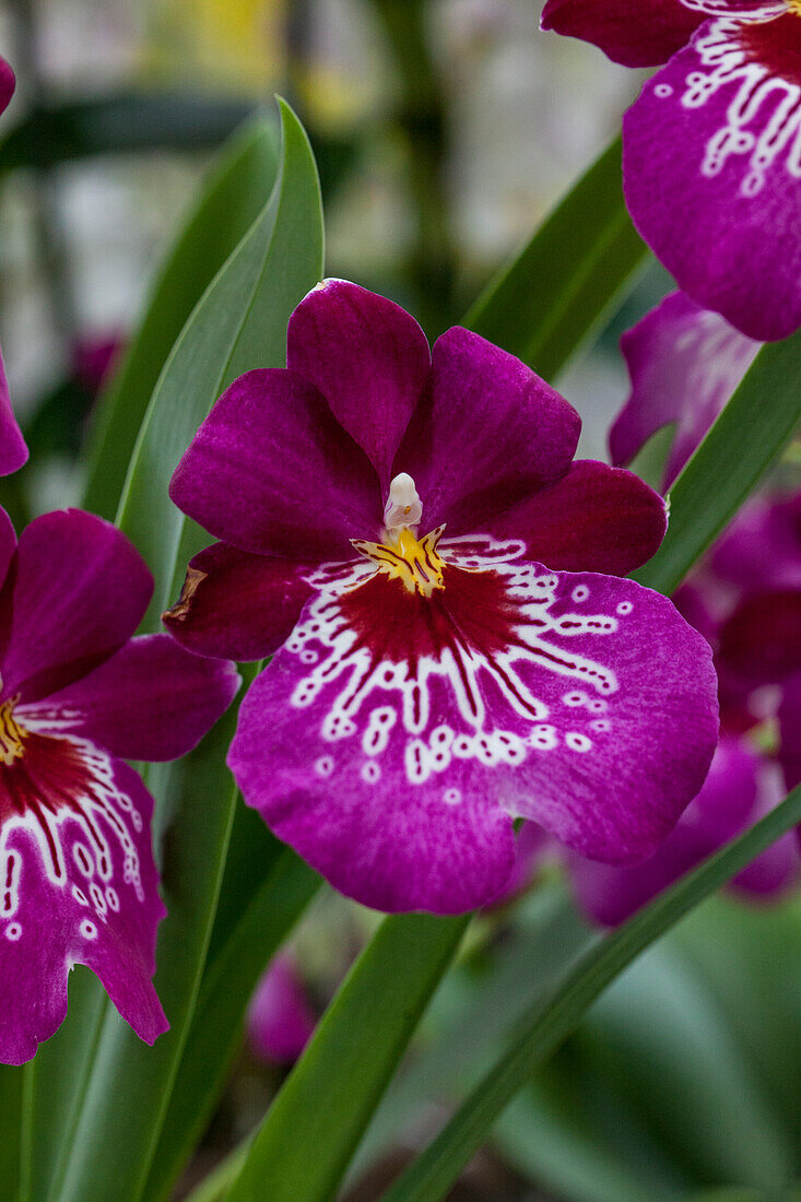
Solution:
<path fill-rule="evenodd" d="M 170 496 L 216 538 L 287 559 L 342 559 L 382 513 L 364 452 L 313 385 L 280 369 L 248 371 L 222 393 Z"/>

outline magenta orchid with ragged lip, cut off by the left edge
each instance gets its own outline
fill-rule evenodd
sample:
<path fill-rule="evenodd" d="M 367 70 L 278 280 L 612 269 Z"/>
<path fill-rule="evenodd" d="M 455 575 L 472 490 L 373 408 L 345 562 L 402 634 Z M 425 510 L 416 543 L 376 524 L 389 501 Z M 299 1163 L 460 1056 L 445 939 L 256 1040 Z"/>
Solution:
<path fill-rule="evenodd" d="M 60 1025 L 88 965 L 148 1043 L 165 909 L 153 799 L 124 760 L 173 760 L 236 692 L 232 665 L 131 638 L 153 579 L 109 523 L 66 510 L 14 537 L 0 510 L 0 1060 Z"/>

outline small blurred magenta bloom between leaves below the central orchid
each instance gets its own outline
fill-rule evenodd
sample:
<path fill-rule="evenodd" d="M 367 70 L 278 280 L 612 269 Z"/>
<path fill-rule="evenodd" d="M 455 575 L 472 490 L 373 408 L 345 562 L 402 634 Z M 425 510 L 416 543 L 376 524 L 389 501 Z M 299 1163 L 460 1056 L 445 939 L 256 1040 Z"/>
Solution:
<path fill-rule="evenodd" d="M 248 1008 L 248 1039 L 267 1064 L 293 1064 L 316 1027 L 314 1013 L 291 956 L 269 964 Z"/>

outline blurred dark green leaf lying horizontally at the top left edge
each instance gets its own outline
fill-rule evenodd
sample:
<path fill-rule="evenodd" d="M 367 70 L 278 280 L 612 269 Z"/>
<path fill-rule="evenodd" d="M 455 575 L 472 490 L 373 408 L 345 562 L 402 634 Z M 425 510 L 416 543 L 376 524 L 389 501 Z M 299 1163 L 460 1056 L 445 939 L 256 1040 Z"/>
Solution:
<path fill-rule="evenodd" d="M 251 108 L 186 91 L 118 91 L 35 108 L 0 142 L 0 173 L 99 154 L 203 150 L 227 138 Z"/>

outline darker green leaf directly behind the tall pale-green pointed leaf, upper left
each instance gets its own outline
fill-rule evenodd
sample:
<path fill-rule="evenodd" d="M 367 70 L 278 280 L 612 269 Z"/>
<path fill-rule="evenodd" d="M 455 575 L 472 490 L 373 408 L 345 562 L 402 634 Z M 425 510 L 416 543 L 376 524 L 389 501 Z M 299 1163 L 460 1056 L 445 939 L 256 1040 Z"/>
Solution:
<path fill-rule="evenodd" d="M 269 197 L 278 168 L 274 121 L 256 117 L 224 150 L 165 258 L 142 323 L 97 405 L 84 506 L 113 518 L 148 403 L 186 319 Z"/>

